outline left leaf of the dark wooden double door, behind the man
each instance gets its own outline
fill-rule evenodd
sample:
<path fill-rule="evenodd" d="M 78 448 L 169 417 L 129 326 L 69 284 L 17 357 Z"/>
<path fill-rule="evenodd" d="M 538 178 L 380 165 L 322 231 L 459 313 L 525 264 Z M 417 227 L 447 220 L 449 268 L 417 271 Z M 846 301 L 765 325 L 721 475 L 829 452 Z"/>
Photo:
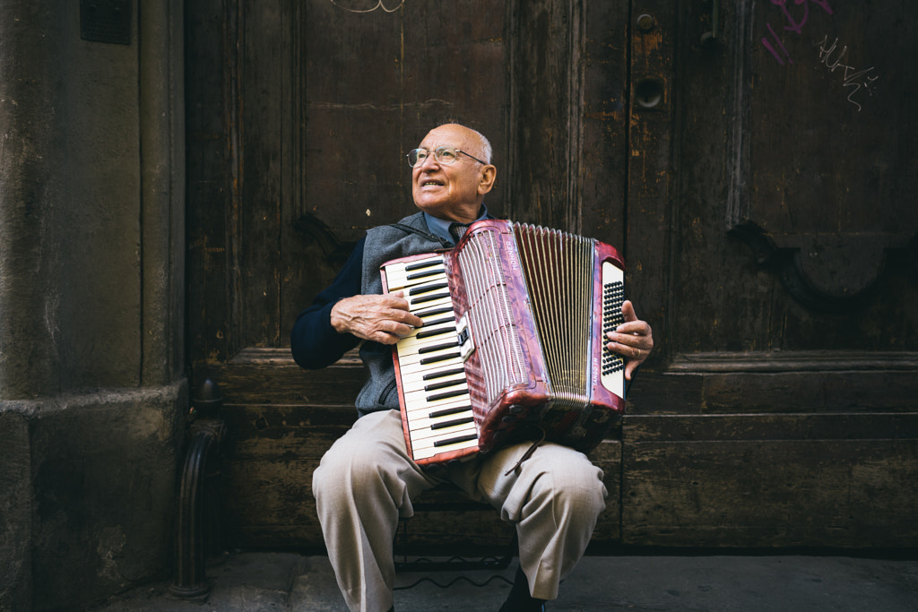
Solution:
<path fill-rule="evenodd" d="M 459 121 L 488 136 L 492 213 L 577 229 L 586 219 L 621 241 L 623 166 L 594 196 L 603 206 L 582 213 L 576 195 L 579 173 L 623 147 L 607 133 L 607 152 L 578 162 L 568 117 L 583 114 L 586 85 L 570 74 L 587 52 L 584 21 L 559 0 L 186 3 L 192 386 L 210 378 L 225 398 L 233 543 L 321 543 L 311 472 L 353 422 L 364 373 L 353 356 L 302 372 L 287 335 L 366 228 L 413 212 L 404 155 L 429 129 Z M 626 23 L 615 27 L 597 30 L 599 61 L 607 39 L 623 57 Z M 609 104 L 617 121 L 601 115 Z M 621 125 L 621 99 L 596 108 L 592 125 Z M 620 454 L 599 460 L 614 462 L 610 486 Z M 476 541 L 503 533 L 493 523 L 473 529 Z"/>

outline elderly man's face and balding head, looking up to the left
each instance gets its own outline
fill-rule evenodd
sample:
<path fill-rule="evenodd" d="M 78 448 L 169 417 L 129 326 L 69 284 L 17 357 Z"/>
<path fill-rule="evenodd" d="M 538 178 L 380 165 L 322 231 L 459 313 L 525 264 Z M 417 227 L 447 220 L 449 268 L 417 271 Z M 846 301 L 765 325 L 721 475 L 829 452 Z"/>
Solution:
<path fill-rule="evenodd" d="M 475 132 L 456 125 L 434 128 L 420 142 L 419 148 L 429 151 L 438 147 L 454 147 L 481 159 L 481 145 Z M 411 172 L 414 203 L 426 213 L 469 223 L 478 217 L 481 201 L 494 184 L 494 166 L 479 163 L 460 154 L 452 164 L 427 159 Z"/>

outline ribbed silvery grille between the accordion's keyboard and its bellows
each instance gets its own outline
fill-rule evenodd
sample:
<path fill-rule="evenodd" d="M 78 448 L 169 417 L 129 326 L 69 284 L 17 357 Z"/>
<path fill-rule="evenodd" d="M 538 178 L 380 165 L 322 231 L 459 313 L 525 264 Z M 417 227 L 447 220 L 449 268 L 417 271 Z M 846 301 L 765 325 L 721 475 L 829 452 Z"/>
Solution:
<path fill-rule="evenodd" d="M 498 249 L 498 232 L 482 231 L 470 236 L 458 258 L 488 404 L 504 389 L 528 380 Z"/>

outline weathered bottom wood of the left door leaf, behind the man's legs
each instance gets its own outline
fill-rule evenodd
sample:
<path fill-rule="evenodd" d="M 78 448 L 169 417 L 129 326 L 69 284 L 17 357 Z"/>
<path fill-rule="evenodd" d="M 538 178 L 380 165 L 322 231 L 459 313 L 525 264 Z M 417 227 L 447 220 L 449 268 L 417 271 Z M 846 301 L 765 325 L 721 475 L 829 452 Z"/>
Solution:
<path fill-rule="evenodd" d="M 229 432 L 223 446 L 221 491 L 230 546 L 322 547 L 311 493 L 312 472 L 334 440 L 353 424 L 353 399 L 363 383 L 358 362 L 327 373 L 302 371 L 280 351 L 248 351 L 209 370 L 224 398 L 221 411 Z M 616 432 L 617 435 L 617 432 Z M 609 492 L 595 540 L 620 537 L 621 445 L 606 440 L 590 458 L 604 473 Z M 497 552 L 512 529 L 484 505 L 453 509 L 463 496 L 424 495 L 412 518 L 407 544 L 432 550 Z"/>

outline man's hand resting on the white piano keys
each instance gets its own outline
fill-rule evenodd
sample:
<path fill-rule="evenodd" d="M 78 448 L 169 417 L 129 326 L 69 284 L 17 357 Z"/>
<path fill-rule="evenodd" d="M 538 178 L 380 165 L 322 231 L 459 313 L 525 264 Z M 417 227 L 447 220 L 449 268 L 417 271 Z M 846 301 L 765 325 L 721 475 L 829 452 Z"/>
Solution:
<path fill-rule="evenodd" d="M 354 295 L 331 307 L 331 327 L 382 344 L 395 344 L 424 322 L 409 312 L 400 292 L 388 295 Z"/>

